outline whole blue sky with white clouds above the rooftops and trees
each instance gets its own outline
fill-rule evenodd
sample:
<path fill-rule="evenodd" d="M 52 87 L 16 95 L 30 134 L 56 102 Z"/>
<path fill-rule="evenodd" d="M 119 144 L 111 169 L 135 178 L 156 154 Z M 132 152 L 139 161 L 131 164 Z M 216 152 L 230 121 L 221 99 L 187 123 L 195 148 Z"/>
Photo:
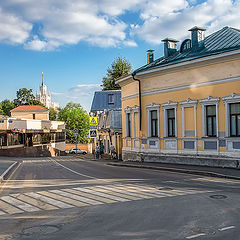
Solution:
<path fill-rule="evenodd" d="M 39 90 L 41 72 L 52 100 L 89 110 L 112 61 L 133 69 L 146 50 L 162 56 L 161 40 L 182 40 L 197 25 L 206 35 L 240 28 L 240 0 L 7 0 L 0 2 L 0 101 L 19 88 Z"/>

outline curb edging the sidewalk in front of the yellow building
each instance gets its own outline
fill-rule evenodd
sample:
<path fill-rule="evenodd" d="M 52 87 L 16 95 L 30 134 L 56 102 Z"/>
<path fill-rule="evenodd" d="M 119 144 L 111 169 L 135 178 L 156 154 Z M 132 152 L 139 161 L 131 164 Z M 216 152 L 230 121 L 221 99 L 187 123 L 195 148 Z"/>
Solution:
<path fill-rule="evenodd" d="M 144 165 L 136 165 L 136 164 L 124 164 L 124 163 L 123 164 L 122 163 L 120 163 L 120 164 L 119 163 L 107 163 L 107 165 L 118 166 L 118 167 L 145 168 L 145 169 L 153 169 L 153 170 L 161 170 L 161 171 L 169 171 L 169 172 L 179 172 L 179 173 L 195 174 L 195 175 L 207 176 L 207 177 L 234 179 L 234 180 L 240 181 L 240 177 L 223 175 L 223 174 L 215 173 L 215 172 L 186 170 L 186 169 L 179 169 L 179 168 L 153 167 L 153 166 L 144 166 Z"/>

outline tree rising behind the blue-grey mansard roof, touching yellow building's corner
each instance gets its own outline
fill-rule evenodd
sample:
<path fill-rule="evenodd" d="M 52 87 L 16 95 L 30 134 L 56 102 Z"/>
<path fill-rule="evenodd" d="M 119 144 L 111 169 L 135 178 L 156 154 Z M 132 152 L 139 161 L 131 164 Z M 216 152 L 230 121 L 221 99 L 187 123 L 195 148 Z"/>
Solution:
<path fill-rule="evenodd" d="M 116 80 L 131 72 L 131 64 L 125 58 L 118 57 L 115 59 L 110 68 L 107 69 L 107 74 L 102 79 L 102 90 L 120 89 L 116 84 Z"/>

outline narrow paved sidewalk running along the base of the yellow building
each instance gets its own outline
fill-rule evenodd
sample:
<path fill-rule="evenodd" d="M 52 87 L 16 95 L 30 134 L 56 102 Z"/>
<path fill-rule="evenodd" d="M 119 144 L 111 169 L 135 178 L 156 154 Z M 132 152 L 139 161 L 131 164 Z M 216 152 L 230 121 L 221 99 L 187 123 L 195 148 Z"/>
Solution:
<path fill-rule="evenodd" d="M 240 180 L 240 169 L 233 168 L 217 168 L 217 167 L 205 167 L 185 164 L 169 164 L 169 163 L 150 163 L 150 162 L 109 162 L 108 165 L 120 166 L 120 167 L 135 167 L 154 169 L 169 172 L 180 172 L 186 174 L 195 174 L 200 176 L 220 177 L 228 179 Z"/>

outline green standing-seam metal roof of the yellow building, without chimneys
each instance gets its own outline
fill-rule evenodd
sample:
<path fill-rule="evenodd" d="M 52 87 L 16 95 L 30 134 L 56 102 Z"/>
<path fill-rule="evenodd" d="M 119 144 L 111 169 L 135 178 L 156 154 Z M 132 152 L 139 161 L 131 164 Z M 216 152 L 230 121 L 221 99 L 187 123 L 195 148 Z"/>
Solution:
<path fill-rule="evenodd" d="M 240 30 L 231 27 L 224 27 L 207 36 L 201 44 L 202 46 L 197 50 L 190 48 L 182 52 L 177 51 L 168 58 L 158 58 L 154 62 L 136 69 L 134 73 L 240 49 Z"/>

